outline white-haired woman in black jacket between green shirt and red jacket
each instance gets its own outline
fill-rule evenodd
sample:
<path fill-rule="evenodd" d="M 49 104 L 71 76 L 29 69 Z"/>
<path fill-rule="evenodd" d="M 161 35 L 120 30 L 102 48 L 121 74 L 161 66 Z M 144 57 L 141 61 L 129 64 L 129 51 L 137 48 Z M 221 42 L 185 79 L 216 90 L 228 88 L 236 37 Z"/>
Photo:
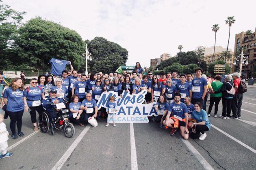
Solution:
<path fill-rule="evenodd" d="M 234 95 L 229 94 L 233 87 L 232 76 L 227 75 L 223 86 L 219 91 L 214 91 L 215 94 L 222 92 L 222 115 L 219 115 L 222 119 L 229 119 L 231 113 L 231 103 Z"/>

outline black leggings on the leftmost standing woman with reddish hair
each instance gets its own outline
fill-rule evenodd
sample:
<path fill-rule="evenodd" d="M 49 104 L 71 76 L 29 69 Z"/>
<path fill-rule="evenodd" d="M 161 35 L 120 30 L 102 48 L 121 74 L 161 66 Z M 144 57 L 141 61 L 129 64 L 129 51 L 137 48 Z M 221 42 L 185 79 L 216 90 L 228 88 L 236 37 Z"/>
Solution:
<path fill-rule="evenodd" d="M 7 111 L 8 115 L 11 119 L 10 128 L 11 128 L 12 134 L 16 133 L 16 126 L 15 126 L 16 122 L 17 122 L 18 132 L 21 132 L 23 112 L 24 112 L 24 110 L 20 110 L 18 112 Z"/>

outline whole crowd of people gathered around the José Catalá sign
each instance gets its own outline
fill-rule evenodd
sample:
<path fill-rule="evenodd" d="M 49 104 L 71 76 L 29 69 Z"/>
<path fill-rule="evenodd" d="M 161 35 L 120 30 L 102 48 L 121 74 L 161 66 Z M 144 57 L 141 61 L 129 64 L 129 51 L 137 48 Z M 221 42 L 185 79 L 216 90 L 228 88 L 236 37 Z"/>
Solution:
<path fill-rule="evenodd" d="M 115 113 L 117 112 L 115 98 L 109 98 L 108 107 L 98 109 L 97 102 L 102 93 L 114 91 L 116 95 L 121 96 L 123 93 L 138 94 L 141 90 L 147 90 L 145 95 L 145 103 L 156 102 L 154 106 L 159 116 L 152 117 L 152 121 L 160 122 L 161 127 L 170 128 L 170 134 L 174 135 L 177 129 L 184 139 L 206 138 L 206 131 L 210 130 L 210 121 L 208 116 L 215 103 L 215 115 L 217 115 L 218 104 L 222 98 L 223 113 L 221 118 L 241 117 L 241 104 L 243 94 L 239 93 L 240 85 L 239 73 L 233 73 L 232 76 L 225 77 L 225 82 L 221 83 L 221 77 L 213 77 L 213 82 L 202 74 L 202 68 L 195 69 L 195 77 L 193 74 L 180 74 L 178 72 L 161 72 L 160 76 L 153 75 L 148 71 L 147 75 L 139 62 L 132 73 L 124 71 L 123 74 L 109 73 L 103 74 L 99 72 L 81 74 L 74 70 L 71 62 L 69 63 L 71 71 L 63 70 L 62 76 L 40 75 L 38 79 L 30 80 L 29 87 L 25 87 L 24 81 L 15 78 L 11 81 L 8 88 L 4 90 L 3 100 L 1 100 L 1 108 L 3 104 L 5 115 L 0 114 L 0 138 L 7 135 L 6 128 L 2 129 L 1 120 L 9 116 L 11 119 L 11 138 L 17 139 L 18 136 L 24 136 L 22 132 L 22 115 L 28 111 L 31 115 L 31 121 L 34 131 L 38 131 L 36 111 L 39 115 L 46 110 L 50 117 L 54 118 L 56 112 L 59 111 L 53 104 L 69 100 L 69 119 L 72 123 L 84 126 L 88 123 L 89 117 L 96 119 L 107 119 L 106 126 L 112 117 L 113 126 L 115 125 Z M 2 74 L 0 74 L 1 83 Z M 233 78 L 233 82 L 232 82 Z M 231 95 L 230 91 L 233 87 L 236 93 Z M 0 93 L 3 88 L 0 86 Z M 210 106 L 208 108 L 208 116 L 206 113 L 206 101 L 210 93 Z M 230 116 L 232 104 L 233 116 Z M 216 117 L 216 116 L 215 116 Z M 17 125 L 17 132 L 16 132 Z M 191 133 L 189 132 L 191 130 Z M 0 142 L 2 140 L 0 139 Z M 8 145 L 7 145 L 8 146 Z M 2 155 L 7 154 L 3 147 Z"/>

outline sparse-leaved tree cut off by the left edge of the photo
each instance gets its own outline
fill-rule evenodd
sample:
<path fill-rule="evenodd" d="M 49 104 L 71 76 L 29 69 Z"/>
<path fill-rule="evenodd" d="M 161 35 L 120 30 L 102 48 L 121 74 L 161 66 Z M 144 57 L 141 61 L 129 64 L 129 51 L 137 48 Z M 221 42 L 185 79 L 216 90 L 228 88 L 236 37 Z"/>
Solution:
<path fill-rule="evenodd" d="M 13 68 L 13 62 L 17 60 L 14 46 L 17 29 L 22 25 L 23 15 L 26 12 L 18 12 L 0 0 L 0 69 Z"/>

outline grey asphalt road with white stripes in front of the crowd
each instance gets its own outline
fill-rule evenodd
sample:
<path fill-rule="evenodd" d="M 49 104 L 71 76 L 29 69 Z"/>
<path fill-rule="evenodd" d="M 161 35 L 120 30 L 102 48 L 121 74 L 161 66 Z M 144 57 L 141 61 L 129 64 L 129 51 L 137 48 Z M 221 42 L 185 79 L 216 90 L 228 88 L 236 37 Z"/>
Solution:
<path fill-rule="evenodd" d="M 214 118 L 212 112 L 213 126 L 203 141 L 184 141 L 178 131 L 170 136 L 155 122 L 105 127 L 103 120 L 98 127 L 75 125 L 73 138 L 61 130 L 51 136 L 33 132 L 30 115 L 24 113 L 25 136 L 8 140 L 14 155 L 1 159 L 0 169 L 255 169 L 256 88 L 244 94 L 242 108 L 242 119 Z M 221 110 L 220 102 L 218 115 Z M 11 133 L 9 121 L 4 122 Z"/>

